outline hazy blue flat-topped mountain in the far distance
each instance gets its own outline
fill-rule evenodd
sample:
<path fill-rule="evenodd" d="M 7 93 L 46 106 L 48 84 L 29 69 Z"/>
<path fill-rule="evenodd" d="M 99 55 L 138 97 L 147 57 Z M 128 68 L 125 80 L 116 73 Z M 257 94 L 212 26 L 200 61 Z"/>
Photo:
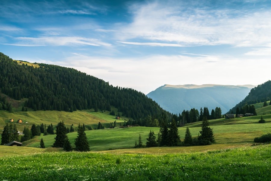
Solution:
<path fill-rule="evenodd" d="M 248 95 L 254 85 L 168 85 L 147 94 L 165 110 L 179 114 L 183 110 L 220 107 L 226 113 Z"/>

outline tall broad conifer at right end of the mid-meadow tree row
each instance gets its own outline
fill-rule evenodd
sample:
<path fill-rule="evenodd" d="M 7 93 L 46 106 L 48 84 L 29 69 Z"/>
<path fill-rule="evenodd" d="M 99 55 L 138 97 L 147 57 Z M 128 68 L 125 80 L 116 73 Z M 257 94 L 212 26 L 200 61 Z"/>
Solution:
<path fill-rule="evenodd" d="M 202 120 L 200 134 L 201 135 L 198 136 L 198 141 L 200 144 L 207 145 L 214 142 L 213 129 L 209 127 L 209 122 L 205 116 Z"/>

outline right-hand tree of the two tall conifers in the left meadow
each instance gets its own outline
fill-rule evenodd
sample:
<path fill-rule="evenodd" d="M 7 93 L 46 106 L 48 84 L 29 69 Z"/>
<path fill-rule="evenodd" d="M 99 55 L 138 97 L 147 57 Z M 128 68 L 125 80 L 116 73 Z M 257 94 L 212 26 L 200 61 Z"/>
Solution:
<path fill-rule="evenodd" d="M 75 150 L 76 151 L 89 151 L 89 142 L 86 137 L 83 126 L 79 125 L 77 130 L 77 138 L 75 138 Z"/>

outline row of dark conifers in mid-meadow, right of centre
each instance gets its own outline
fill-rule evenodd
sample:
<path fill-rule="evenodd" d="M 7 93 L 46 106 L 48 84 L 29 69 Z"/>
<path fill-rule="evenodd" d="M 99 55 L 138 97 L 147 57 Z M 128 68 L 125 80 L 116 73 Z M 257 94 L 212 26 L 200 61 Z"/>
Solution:
<path fill-rule="evenodd" d="M 192 138 L 189 128 L 186 128 L 185 138 L 182 142 L 178 134 L 176 122 L 173 119 L 170 128 L 168 129 L 167 123 L 164 123 L 160 128 L 158 137 L 154 135 L 153 131 L 148 134 L 146 147 L 156 146 L 190 146 L 190 145 L 207 145 L 214 142 L 213 130 L 209 127 L 209 122 L 204 116 L 201 125 L 201 131 L 197 138 Z M 143 147 L 142 138 L 139 134 L 138 142 L 135 143 L 135 148 Z"/>

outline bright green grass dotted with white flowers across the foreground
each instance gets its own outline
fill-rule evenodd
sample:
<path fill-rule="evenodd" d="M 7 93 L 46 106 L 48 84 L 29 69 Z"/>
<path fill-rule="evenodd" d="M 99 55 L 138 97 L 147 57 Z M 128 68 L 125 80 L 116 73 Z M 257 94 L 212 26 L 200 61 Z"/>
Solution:
<path fill-rule="evenodd" d="M 55 152 L 0 157 L 0 180 L 269 180 L 271 145 L 190 154 Z"/>

